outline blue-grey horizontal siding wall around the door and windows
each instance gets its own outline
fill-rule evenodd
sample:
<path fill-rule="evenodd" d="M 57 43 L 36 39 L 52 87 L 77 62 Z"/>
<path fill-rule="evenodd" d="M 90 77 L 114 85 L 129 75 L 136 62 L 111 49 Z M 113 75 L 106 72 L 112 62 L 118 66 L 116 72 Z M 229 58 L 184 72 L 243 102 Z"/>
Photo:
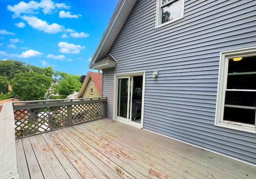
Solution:
<path fill-rule="evenodd" d="M 185 0 L 183 19 L 155 29 L 156 0 L 137 0 L 109 51 L 118 63 L 103 70 L 107 116 L 114 74 L 146 71 L 144 129 L 256 165 L 256 134 L 214 126 L 220 51 L 256 46 L 255 10 L 255 0 Z"/>

